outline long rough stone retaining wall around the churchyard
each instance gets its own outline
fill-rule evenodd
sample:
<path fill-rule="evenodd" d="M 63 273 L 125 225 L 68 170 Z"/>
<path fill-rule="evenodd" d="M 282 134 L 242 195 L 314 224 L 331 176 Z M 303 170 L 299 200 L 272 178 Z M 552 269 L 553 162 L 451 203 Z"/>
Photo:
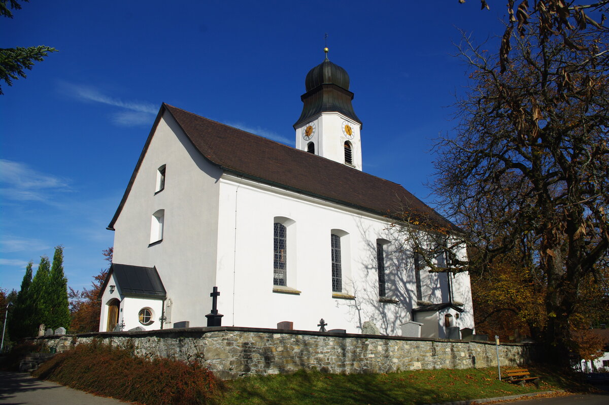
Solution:
<path fill-rule="evenodd" d="M 57 352 L 96 339 L 133 348 L 137 356 L 196 360 L 216 375 L 320 370 L 328 373 L 387 373 L 397 370 L 471 368 L 497 365 L 494 342 L 337 334 L 238 327 L 164 329 L 33 338 Z M 530 343 L 499 346 L 501 365 L 515 367 L 537 358 Z"/>

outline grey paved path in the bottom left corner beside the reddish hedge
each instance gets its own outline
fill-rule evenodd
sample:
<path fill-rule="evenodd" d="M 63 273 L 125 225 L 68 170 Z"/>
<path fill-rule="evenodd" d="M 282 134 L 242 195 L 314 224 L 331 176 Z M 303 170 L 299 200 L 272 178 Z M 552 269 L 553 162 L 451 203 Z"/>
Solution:
<path fill-rule="evenodd" d="M 0 372 L 0 404 L 125 405 L 127 403 L 33 378 L 28 373 Z"/>

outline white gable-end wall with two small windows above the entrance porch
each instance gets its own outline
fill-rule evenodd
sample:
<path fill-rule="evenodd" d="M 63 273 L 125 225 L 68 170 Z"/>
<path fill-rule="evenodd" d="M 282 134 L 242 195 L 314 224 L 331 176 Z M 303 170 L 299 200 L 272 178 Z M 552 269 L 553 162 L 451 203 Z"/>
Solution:
<path fill-rule="evenodd" d="M 163 164 L 165 187 L 155 194 L 157 169 Z M 157 267 L 167 297 L 174 300 L 173 322 L 206 326 L 216 275 L 219 177 L 220 170 L 201 156 L 166 112 L 114 225 L 113 261 Z M 160 209 L 165 210 L 163 241 L 149 246 L 152 214 Z"/>

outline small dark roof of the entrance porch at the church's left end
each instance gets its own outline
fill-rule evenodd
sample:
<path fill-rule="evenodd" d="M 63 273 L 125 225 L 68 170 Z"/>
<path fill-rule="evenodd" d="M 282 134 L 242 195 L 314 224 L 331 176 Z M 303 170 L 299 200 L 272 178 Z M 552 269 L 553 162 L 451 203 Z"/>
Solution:
<path fill-rule="evenodd" d="M 99 291 L 99 297 L 104 294 L 111 275 L 114 274 L 116 284 L 124 295 L 143 295 L 146 297 L 166 297 L 163 281 L 158 275 L 157 267 L 131 266 L 128 264 L 112 263 L 104 285 Z"/>

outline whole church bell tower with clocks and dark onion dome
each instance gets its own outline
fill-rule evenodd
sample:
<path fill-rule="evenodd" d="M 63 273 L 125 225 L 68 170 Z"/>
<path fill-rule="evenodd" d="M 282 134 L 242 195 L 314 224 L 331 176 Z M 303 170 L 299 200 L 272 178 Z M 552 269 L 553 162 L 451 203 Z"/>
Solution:
<path fill-rule="evenodd" d="M 353 111 L 349 75 L 325 60 L 305 79 L 303 111 L 294 124 L 296 148 L 362 170 L 362 122 Z"/>

